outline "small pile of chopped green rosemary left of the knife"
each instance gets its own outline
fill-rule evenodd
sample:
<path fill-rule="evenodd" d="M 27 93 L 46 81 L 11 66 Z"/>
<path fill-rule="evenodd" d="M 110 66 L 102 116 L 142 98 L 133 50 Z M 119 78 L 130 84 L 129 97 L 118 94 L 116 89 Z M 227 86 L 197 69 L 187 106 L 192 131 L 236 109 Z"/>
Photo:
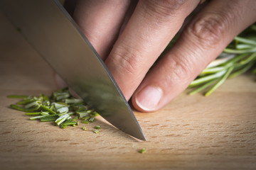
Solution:
<path fill-rule="evenodd" d="M 60 128 L 67 128 L 68 125 L 79 125 L 82 123 L 92 123 L 99 115 L 92 108 L 87 106 L 82 99 L 74 98 L 70 95 L 68 88 L 55 91 L 50 98 L 44 94 L 36 96 L 11 95 L 9 98 L 22 98 L 16 104 L 11 104 L 11 108 L 26 112 L 32 116 L 30 120 L 41 120 L 41 122 L 53 121 Z M 96 126 L 99 129 L 100 126 Z"/>

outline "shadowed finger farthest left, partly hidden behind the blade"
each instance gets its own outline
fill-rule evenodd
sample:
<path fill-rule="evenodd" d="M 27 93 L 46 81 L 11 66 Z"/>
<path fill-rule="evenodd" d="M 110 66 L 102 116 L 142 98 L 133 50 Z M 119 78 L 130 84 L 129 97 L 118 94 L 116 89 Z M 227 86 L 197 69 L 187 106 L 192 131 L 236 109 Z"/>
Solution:
<path fill-rule="evenodd" d="M 109 54 L 122 26 L 129 0 L 78 1 L 74 20 L 103 60 Z"/>

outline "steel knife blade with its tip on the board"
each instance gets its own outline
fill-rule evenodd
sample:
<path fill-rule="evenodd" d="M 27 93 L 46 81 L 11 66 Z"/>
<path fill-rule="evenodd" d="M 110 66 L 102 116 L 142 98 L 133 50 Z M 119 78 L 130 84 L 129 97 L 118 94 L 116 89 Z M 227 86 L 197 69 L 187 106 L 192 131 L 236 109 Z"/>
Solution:
<path fill-rule="evenodd" d="M 58 0 L 0 0 L 0 8 L 38 54 L 102 118 L 132 137 L 146 140 L 104 62 Z"/>

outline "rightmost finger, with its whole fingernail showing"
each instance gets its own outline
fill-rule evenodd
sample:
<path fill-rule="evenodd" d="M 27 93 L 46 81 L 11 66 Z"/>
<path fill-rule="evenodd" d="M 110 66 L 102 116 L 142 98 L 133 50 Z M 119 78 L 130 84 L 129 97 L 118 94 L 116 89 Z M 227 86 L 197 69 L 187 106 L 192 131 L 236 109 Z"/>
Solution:
<path fill-rule="evenodd" d="M 183 30 L 174 47 L 151 69 L 132 97 L 139 111 L 156 111 L 178 96 L 256 21 L 256 1 L 210 1 Z"/>

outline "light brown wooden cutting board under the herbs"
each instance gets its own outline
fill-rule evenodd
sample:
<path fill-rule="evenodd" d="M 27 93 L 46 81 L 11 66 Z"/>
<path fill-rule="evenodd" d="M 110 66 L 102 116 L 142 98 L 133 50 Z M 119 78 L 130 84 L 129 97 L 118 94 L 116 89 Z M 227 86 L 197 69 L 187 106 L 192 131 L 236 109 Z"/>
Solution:
<path fill-rule="evenodd" d="M 87 131 L 63 130 L 9 108 L 10 94 L 57 88 L 53 70 L 1 14 L 0 33 L 0 169 L 256 169 L 255 77 L 229 79 L 208 97 L 185 91 L 156 113 L 134 111 L 146 142 L 102 118 Z"/>

